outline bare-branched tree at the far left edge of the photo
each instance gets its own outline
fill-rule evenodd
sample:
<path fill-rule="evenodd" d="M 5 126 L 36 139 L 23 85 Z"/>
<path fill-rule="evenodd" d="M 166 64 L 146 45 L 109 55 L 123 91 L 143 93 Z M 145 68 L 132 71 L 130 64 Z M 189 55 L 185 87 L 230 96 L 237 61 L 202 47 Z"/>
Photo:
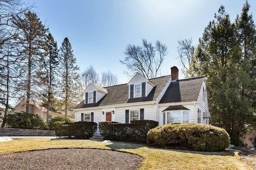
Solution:
<path fill-rule="evenodd" d="M 0 1 L 0 103 L 5 106 L 4 118 L 11 108 L 9 98 L 16 97 L 17 82 L 20 77 L 18 63 L 22 51 L 17 51 L 16 39 L 20 34 L 14 24 L 15 18 L 22 16 L 32 6 L 25 6 L 22 0 Z M 5 125 L 5 119 L 2 127 Z"/>

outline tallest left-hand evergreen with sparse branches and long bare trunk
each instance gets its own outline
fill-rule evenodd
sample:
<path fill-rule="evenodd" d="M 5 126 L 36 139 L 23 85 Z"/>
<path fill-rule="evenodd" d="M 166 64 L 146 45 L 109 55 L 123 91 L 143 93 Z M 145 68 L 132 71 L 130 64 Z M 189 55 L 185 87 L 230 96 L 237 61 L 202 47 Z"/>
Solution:
<path fill-rule="evenodd" d="M 20 69 L 24 72 L 24 79 L 19 86 L 25 90 L 26 112 L 28 112 L 31 98 L 38 98 L 36 96 L 36 82 L 38 82 L 36 73 L 39 68 L 38 61 L 40 56 L 44 55 L 47 29 L 36 13 L 30 11 L 25 14 L 24 18 L 17 17 L 15 24 L 20 29 L 18 43 L 20 51 L 23 52 Z"/>

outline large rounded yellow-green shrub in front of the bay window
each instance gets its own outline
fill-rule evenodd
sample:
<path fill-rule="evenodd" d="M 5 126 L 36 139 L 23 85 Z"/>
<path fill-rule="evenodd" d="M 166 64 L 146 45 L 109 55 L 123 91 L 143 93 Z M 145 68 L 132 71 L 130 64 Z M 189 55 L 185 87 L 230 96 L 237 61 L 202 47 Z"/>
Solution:
<path fill-rule="evenodd" d="M 197 151 L 221 151 L 230 144 L 228 133 L 219 127 L 198 123 L 158 126 L 148 131 L 148 145 L 168 147 L 178 145 Z"/>

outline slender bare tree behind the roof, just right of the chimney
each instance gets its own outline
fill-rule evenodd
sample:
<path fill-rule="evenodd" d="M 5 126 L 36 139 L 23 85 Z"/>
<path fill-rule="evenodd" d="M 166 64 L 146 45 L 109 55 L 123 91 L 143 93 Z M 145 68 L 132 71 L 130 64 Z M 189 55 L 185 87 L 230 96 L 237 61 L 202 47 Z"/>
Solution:
<path fill-rule="evenodd" d="M 182 64 L 182 73 L 184 74 L 185 78 L 188 78 L 188 71 L 190 67 L 190 63 L 193 59 L 195 48 L 192 45 L 192 38 L 190 39 L 182 39 L 178 40 L 178 59 Z"/>

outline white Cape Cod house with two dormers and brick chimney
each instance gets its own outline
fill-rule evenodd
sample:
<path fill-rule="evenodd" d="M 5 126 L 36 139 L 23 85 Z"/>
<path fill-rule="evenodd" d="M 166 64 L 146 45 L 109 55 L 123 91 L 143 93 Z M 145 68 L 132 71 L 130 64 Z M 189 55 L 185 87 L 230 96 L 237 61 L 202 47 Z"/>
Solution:
<path fill-rule="evenodd" d="M 75 121 L 148 119 L 167 123 L 209 124 L 205 77 L 178 80 L 178 68 L 171 75 L 147 79 L 136 73 L 127 84 L 99 87 L 89 84 L 84 101 L 74 111 Z"/>

